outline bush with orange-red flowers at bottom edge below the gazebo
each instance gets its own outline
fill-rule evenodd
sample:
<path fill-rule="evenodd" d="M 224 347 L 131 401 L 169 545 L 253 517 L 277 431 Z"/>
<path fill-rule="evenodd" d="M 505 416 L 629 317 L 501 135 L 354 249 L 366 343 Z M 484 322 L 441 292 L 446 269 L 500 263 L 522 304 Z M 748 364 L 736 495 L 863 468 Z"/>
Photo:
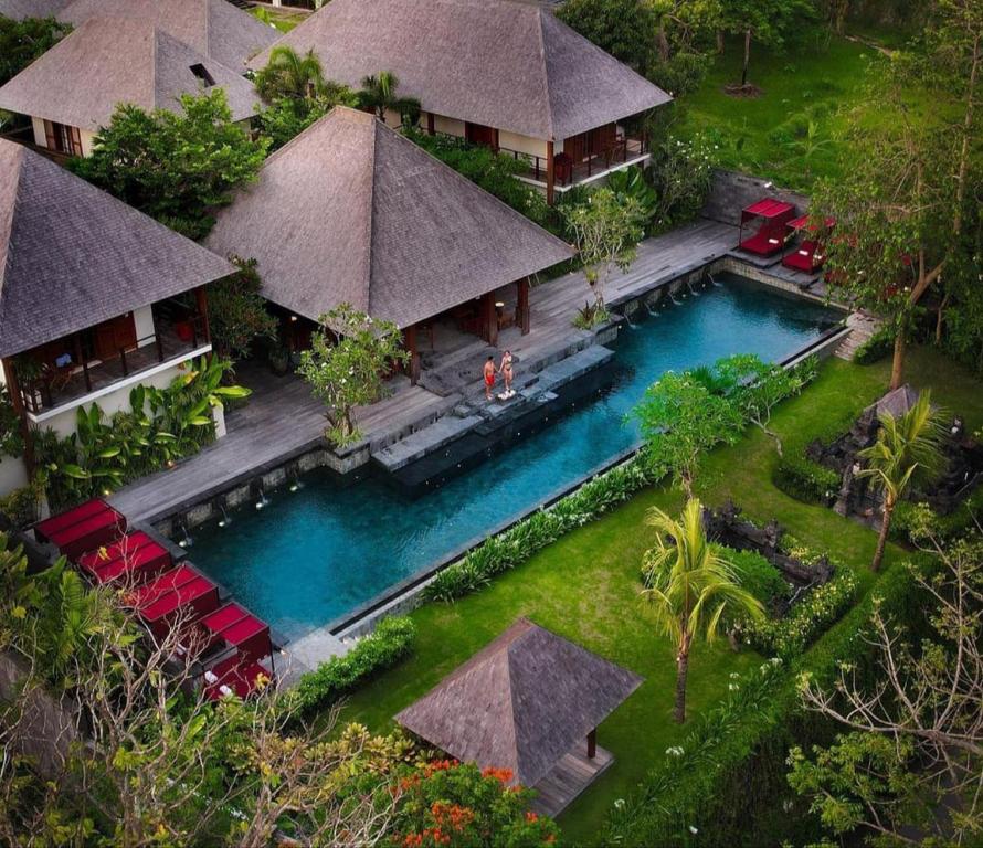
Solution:
<path fill-rule="evenodd" d="M 400 783 L 392 848 L 509 846 L 538 848 L 557 840 L 552 819 L 529 809 L 535 793 L 509 785 L 507 768 L 437 760 L 413 768 Z"/>

